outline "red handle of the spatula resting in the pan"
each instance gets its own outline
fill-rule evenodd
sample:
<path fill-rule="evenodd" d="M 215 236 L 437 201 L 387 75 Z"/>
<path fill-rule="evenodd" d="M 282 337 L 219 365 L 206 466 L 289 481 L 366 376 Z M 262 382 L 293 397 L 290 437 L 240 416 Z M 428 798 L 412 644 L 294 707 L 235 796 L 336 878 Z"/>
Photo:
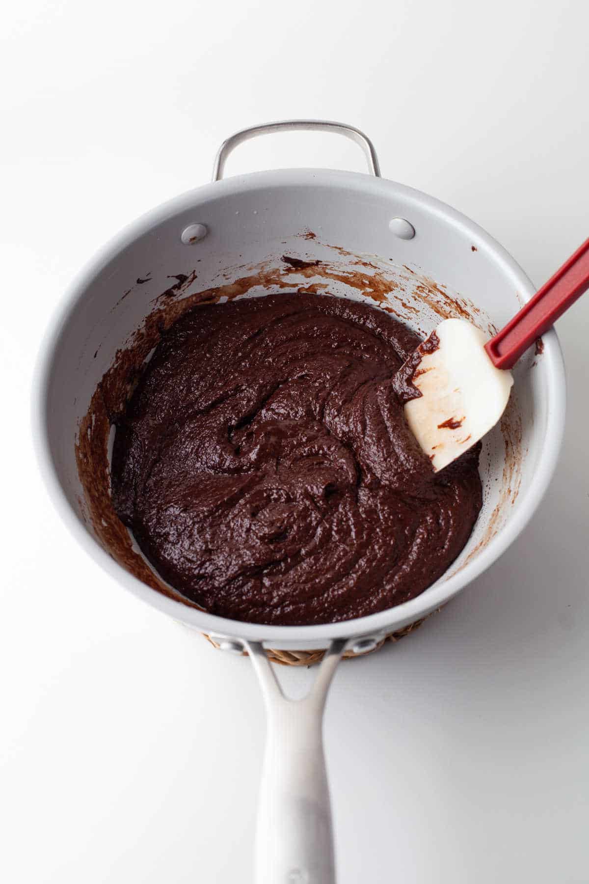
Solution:
<path fill-rule="evenodd" d="M 510 369 L 521 354 L 589 288 L 589 240 L 548 279 L 510 322 L 485 345 L 497 369 Z"/>

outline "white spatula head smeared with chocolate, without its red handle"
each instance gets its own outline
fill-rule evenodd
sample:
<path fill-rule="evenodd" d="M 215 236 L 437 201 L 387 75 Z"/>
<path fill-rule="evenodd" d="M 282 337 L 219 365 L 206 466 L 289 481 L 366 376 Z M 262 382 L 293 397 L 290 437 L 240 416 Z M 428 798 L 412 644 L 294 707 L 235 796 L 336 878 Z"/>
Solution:
<path fill-rule="evenodd" d="M 445 319 L 397 375 L 407 423 L 436 471 L 491 430 L 510 398 L 513 377 L 495 369 L 487 340 L 466 320 Z"/>

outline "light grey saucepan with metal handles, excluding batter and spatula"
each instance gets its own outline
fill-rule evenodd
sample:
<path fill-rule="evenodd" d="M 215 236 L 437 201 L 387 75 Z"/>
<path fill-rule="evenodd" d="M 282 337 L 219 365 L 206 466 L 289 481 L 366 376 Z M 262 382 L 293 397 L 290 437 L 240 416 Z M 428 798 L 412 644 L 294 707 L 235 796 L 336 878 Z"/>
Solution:
<path fill-rule="evenodd" d="M 367 174 L 288 169 L 223 179 L 240 141 L 289 129 L 353 139 L 366 153 Z M 510 406 L 484 441 L 484 503 L 472 537 L 427 591 L 325 625 L 257 625 L 200 610 L 154 573 L 110 506 L 111 423 L 162 329 L 186 309 L 301 289 L 370 302 L 423 334 L 443 316 L 468 316 L 492 333 L 534 292 L 478 225 L 382 179 L 374 147 L 358 129 L 311 120 L 256 126 L 224 142 L 211 183 L 148 212 L 80 273 L 43 342 L 34 394 L 42 474 L 79 544 L 136 596 L 253 661 L 268 709 L 259 884 L 335 880 L 321 716 L 337 661 L 371 651 L 440 608 L 513 543 L 552 476 L 564 420 L 563 359 L 548 331 L 517 364 Z M 305 699 L 283 696 L 268 649 L 293 659 L 323 652 Z"/>

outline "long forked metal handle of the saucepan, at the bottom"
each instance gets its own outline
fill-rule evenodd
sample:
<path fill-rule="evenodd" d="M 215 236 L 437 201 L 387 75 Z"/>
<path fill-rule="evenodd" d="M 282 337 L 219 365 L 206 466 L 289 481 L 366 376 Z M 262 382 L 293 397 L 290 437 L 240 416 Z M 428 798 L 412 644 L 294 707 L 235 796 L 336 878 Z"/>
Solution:
<path fill-rule="evenodd" d="M 335 884 L 322 721 L 329 684 L 346 642 L 333 642 L 309 694 L 284 697 L 266 652 L 245 644 L 268 712 L 268 743 L 256 833 L 255 884 Z"/>

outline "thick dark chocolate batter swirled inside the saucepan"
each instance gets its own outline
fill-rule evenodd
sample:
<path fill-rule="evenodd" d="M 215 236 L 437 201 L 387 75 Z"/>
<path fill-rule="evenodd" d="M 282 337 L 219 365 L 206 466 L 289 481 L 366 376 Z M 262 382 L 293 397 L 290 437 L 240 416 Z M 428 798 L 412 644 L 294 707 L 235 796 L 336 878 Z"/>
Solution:
<path fill-rule="evenodd" d="M 434 583 L 479 514 L 480 446 L 438 474 L 419 449 L 395 387 L 418 344 L 381 310 L 309 293 L 173 324 L 112 459 L 117 513 L 162 577 L 210 613 L 287 625 Z"/>

